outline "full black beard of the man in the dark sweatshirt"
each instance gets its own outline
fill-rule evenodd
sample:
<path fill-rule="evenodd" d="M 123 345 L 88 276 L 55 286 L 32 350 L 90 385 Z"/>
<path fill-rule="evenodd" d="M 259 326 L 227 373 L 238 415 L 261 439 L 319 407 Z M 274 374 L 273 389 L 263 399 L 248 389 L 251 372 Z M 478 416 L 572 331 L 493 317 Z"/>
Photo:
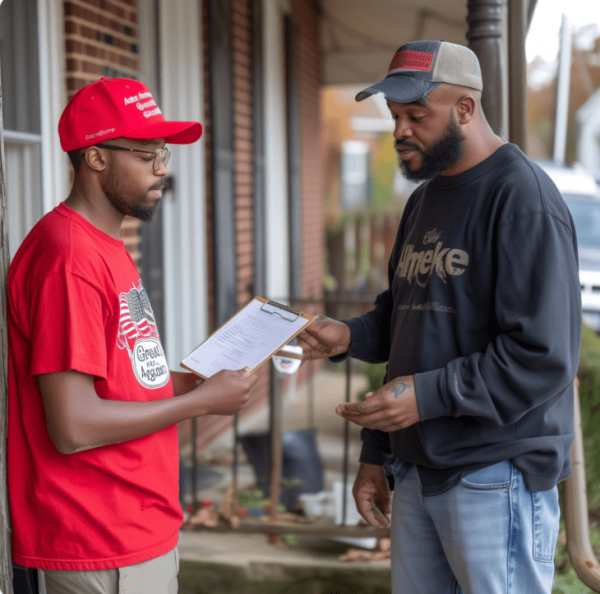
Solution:
<path fill-rule="evenodd" d="M 464 139 L 465 137 L 454 119 L 454 113 L 450 112 L 450 122 L 448 123 L 444 135 L 427 150 L 422 150 L 416 144 L 406 140 L 403 140 L 402 142 L 396 140 L 394 142 L 396 150 L 398 145 L 402 145 L 403 147 L 415 149 L 422 155 L 421 166 L 415 170 L 410 169 L 408 163 L 398 156 L 398 165 L 400 166 L 402 174 L 410 181 L 433 179 L 436 175 L 439 175 L 460 159 L 464 152 Z"/>

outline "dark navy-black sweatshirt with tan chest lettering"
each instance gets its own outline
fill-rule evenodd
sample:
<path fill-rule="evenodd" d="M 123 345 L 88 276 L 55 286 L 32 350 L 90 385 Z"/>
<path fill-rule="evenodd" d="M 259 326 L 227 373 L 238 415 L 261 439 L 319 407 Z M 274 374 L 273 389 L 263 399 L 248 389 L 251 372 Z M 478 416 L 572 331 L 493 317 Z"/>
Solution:
<path fill-rule="evenodd" d="M 423 495 L 510 460 L 530 491 L 570 474 L 581 295 L 573 221 L 515 145 L 419 186 L 400 222 L 389 289 L 347 320 L 346 356 L 415 375 L 421 422 L 363 429 L 361 462 L 418 467 Z M 390 447 L 391 446 L 391 447 Z"/>

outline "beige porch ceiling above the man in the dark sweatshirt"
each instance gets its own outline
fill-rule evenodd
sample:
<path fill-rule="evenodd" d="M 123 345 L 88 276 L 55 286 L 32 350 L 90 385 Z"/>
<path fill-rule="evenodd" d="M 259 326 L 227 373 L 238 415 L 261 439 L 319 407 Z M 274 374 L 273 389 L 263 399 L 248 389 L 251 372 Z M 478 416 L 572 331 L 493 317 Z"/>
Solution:
<path fill-rule="evenodd" d="M 466 0 L 321 0 L 323 84 L 371 84 L 400 45 L 466 44 Z"/>

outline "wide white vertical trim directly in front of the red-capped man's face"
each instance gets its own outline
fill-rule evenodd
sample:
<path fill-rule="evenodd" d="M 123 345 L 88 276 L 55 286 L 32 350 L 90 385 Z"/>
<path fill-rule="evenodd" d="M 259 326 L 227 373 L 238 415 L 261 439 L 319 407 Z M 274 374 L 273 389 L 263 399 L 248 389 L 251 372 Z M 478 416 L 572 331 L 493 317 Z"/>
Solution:
<path fill-rule="evenodd" d="M 161 109 L 166 119 L 204 119 L 202 12 L 198 0 L 159 0 Z M 171 369 L 208 335 L 204 138 L 169 145 L 175 188 L 163 204 L 164 343 Z"/>

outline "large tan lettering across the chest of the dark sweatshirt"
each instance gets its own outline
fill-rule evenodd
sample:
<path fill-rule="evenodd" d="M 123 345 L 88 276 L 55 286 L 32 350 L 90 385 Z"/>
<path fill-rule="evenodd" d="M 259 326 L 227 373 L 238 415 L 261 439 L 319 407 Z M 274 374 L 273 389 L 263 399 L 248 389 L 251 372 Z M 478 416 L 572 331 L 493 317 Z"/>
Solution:
<path fill-rule="evenodd" d="M 423 237 L 423 245 L 426 247 L 420 252 L 415 250 L 414 245 L 404 244 L 396 274 L 405 278 L 409 284 L 414 281 L 420 287 L 425 287 L 430 282 L 434 271 L 446 284 L 447 275 L 463 274 L 469 265 L 469 254 L 464 250 L 444 247 L 441 235 L 437 229 L 427 231 Z"/>

